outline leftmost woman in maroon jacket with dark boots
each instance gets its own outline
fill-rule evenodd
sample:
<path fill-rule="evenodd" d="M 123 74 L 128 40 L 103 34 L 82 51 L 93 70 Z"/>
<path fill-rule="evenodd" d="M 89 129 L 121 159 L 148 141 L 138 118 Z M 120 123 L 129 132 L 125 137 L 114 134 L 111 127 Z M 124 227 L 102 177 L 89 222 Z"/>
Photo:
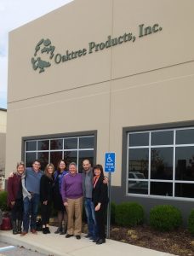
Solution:
<path fill-rule="evenodd" d="M 11 207 L 13 234 L 21 233 L 23 217 L 23 195 L 21 177 L 25 172 L 25 164 L 20 162 L 16 166 L 17 171 L 8 180 L 8 205 Z"/>

